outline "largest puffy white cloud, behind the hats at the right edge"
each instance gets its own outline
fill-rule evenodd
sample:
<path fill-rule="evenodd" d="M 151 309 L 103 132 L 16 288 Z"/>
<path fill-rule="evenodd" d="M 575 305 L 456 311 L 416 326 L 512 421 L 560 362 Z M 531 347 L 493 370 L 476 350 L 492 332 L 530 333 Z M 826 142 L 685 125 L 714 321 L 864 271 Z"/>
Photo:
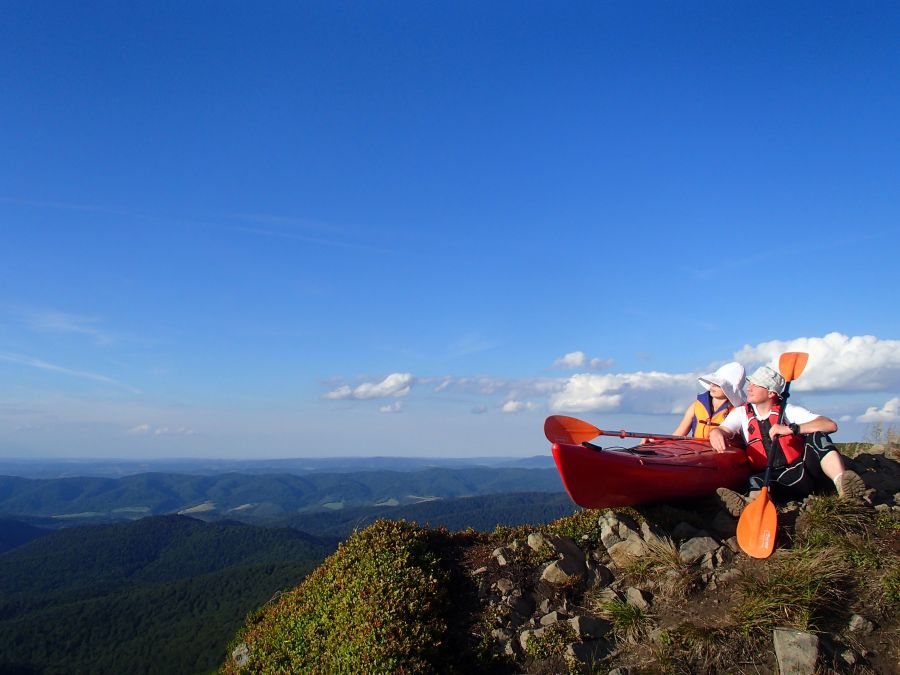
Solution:
<path fill-rule="evenodd" d="M 809 363 L 791 389 L 800 391 L 885 391 L 900 387 L 900 340 L 879 340 L 873 335 L 772 340 L 747 345 L 734 358 L 748 368 L 778 367 L 784 352 L 807 352 Z"/>

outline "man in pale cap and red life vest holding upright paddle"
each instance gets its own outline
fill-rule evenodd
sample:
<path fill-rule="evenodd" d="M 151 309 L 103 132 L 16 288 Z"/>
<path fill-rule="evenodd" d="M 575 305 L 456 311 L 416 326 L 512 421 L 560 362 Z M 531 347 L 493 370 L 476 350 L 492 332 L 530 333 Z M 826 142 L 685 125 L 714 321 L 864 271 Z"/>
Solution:
<path fill-rule="evenodd" d="M 781 412 L 785 382 L 780 373 L 761 366 L 747 378 L 747 404 L 732 410 L 721 425 L 710 432 L 709 442 L 719 452 L 726 441 L 740 433 L 747 444 L 747 458 L 760 473 L 750 477 L 750 498 L 763 486 L 765 469 L 771 453 L 772 473 L 769 491 L 775 501 L 802 499 L 816 489 L 817 479 L 824 474 L 842 497 L 859 499 L 866 484 L 854 471 L 844 468 L 840 453 L 828 434 L 837 424 L 806 408 L 788 403 L 782 423 Z M 776 440 L 777 439 L 777 440 Z M 750 498 L 719 488 L 725 508 L 737 517 Z"/>

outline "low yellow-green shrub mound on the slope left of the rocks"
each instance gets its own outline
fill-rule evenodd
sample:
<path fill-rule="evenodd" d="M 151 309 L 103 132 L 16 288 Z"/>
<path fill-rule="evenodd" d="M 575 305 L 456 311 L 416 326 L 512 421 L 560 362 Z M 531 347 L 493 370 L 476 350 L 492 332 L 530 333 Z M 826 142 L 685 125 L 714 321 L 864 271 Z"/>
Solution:
<path fill-rule="evenodd" d="M 436 672 L 447 630 L 446 575 L 433 531 L 380 520 L 312 575 L 248 618 L 232 643 L 248 648 L 225 673 Z M 444 659 L 446 660 L 446 659 Z"/>

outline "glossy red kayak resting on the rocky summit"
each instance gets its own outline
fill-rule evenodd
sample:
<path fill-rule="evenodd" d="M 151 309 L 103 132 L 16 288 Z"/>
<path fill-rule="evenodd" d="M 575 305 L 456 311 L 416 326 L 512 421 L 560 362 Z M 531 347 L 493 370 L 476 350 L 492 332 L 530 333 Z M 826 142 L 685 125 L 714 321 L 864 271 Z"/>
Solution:
<path fill-rule="evenodd" d="M 588 509 L 743 490 L 751 473 L 743 449 L 716 452 L 699 439 L 604 449 L 554 443 L 553 459 L 572 501 Z"/>

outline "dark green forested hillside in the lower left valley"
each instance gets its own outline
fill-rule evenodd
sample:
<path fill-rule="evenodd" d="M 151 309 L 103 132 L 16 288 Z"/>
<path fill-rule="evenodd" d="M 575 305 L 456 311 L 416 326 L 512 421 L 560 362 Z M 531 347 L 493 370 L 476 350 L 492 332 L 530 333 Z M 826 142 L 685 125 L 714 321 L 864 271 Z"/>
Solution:
<path fill-rule="evenodd" d="M 0 555 L 0 671 L 208 671 L 249 610 L 332 548 L 183 516 L 51 533 Z"/>

